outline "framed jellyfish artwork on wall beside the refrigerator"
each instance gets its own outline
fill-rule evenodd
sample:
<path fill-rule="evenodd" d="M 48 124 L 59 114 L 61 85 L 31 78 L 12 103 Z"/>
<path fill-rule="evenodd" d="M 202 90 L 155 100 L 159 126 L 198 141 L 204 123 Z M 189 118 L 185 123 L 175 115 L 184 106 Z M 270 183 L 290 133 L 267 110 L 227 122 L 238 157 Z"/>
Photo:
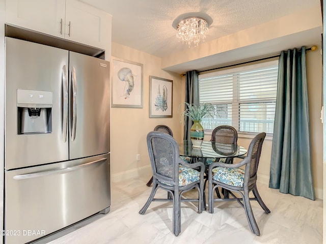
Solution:
<path fill-rule="evenodd" d="M 143 107 L 143 64 L 112 57 L 111 107 Z"/>

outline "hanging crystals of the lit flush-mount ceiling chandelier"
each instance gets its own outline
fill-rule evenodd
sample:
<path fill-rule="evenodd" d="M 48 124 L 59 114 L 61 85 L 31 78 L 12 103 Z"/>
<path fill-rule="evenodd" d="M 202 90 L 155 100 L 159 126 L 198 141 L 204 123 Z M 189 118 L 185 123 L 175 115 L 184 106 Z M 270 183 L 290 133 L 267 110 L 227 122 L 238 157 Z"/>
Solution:
<path fill-rule="evenodd" d="M 201 39 L 205 39 L 208 33 L 208 24 L 206 20 L 200 17 L 189 17 L 183 19 L 177 25 L 177 38 L 182 43 L 187 43 L 191 46 L 197 47 Z"/>

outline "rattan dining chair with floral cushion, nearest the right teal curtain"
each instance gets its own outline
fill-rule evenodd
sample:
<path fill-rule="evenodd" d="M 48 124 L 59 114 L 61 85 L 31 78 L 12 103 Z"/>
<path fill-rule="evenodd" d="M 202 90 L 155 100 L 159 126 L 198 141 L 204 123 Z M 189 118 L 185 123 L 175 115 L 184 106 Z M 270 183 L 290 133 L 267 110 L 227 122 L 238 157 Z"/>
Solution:
<path fill-rule="evenodd" d="M 256 135 L 248 148 L 247 157 L 237 164 L 227 164 L 214 162 L 208 169 L 208 211 L 214 212 L 215 201 L 237 201 L 246 212 L 250 229 L 256 235 L 260 235 L 258 225 L 256 223 L 250 201 L 256 200 L 266 214 L 270 213 L 257 190 L 257 170 L 261 154 L 261 148 L 266 133 L 262 132 Z M 241 168 L 244 166 L 244 169 Z M 229 191 L 233 198 L 214 199 L 214 189 L 222 187 Z M 249 197 L 249 193 L 253 192 L 254 197 Z M 240 196 L 235 196 L 239 193 Z"/>

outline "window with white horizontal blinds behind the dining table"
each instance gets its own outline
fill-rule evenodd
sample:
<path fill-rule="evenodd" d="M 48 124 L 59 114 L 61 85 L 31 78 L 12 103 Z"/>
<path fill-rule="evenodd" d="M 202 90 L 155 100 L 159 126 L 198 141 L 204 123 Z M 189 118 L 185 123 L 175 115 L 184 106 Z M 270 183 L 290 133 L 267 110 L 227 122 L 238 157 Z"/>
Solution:
<path fill-rule="evenodd" d="M 199 101 L 215 105 L 204 129 L 229 125 L 239 133 L 273 134 L 278 60 L 199 75 Z"/>

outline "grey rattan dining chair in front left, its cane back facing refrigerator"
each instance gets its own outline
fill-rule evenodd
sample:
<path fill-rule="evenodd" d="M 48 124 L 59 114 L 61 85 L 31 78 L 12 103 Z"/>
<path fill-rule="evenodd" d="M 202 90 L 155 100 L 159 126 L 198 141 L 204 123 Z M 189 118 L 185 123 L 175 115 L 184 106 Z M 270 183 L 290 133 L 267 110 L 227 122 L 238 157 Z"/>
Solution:
<path fill-rule="evenodd" d="M 147 147 L 153 171 L 153 187 L 139 214 L 144 215 L 153 201 L 172 201 L 173 234 L 178 236 L 181 231 L 181 201 L 197 201 L 198 212 L 202 212 L 205 165 L 202 162 L 188 164 L 181 160 L 176 140 L 166 133 L 149 132 Z M 159 188 L 166 190 L 171 198 L 154 198 Z M 198 199 L 185 199 L 184 196 L 181 199 L 184 192 L 194 188 L 198 190 Z"/>

